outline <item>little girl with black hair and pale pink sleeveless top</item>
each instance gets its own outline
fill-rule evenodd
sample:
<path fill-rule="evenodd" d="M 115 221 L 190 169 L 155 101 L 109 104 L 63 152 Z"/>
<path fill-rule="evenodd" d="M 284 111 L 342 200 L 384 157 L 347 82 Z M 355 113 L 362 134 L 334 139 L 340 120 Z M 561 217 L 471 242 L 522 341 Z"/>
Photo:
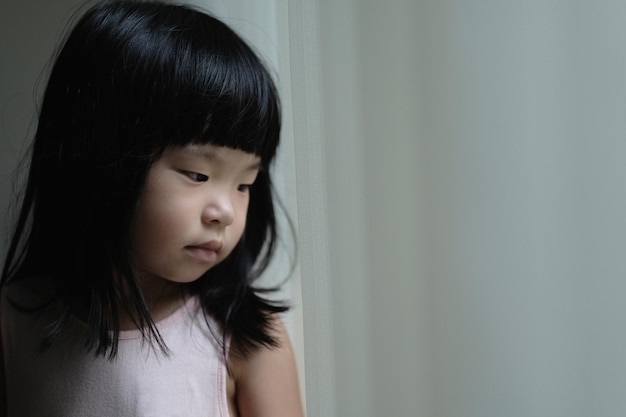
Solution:
<path fill-rule="evenodd" d="M 277 239 L 268 71 L 186 6 L 105 1 L 52 67 L 1 280 L 0 413 L 302 416 L 253 286 Z"/>

